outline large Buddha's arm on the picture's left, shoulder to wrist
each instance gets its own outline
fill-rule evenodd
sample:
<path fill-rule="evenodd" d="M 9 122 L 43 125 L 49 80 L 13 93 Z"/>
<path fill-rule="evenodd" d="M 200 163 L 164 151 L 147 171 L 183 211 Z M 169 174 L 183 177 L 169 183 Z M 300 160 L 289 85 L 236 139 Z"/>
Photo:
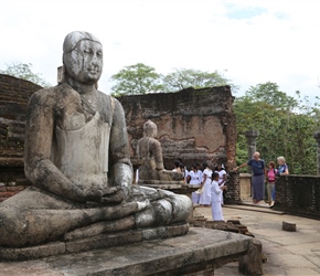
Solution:
<path fill-rule="evenodd" d="M 40 189 L 73 201 L 85 201 L 85 191 L 72 183 L 50 160 L 54 103 L 52 89 L 40 91 L 30 98 L 25 126 L 25 176 Z"/>

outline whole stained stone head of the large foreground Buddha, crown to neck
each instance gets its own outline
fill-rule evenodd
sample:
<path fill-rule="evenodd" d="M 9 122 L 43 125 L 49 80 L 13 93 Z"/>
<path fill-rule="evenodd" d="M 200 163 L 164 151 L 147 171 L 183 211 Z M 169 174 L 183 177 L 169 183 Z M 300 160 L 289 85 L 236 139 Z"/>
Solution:
<path fill-rule="evenodd" d="M 103 45 L 88 32 L 71 32 L 63 43 L 63 66 L 58 68 L 58 83 L 73 79 L 82 84 L 96 84 L 103 73 Z"/>

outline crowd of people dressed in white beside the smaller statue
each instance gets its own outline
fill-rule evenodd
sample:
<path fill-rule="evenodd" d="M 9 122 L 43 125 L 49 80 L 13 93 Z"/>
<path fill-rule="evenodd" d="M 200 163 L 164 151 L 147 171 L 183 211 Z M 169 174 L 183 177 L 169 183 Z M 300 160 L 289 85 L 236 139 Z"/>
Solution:
<path fill-rule="evenodd" d="M 179 167 L 179 161 L 174 162 L 174 169 Z M 200 187 L 192 193 L 192 202 L 200 206 L 212 209 L 212 220 L 223 221 L 222 205 L 224 204 L 224 191 L 226 191 L 226 170 L 224 164 L 218 163 L 214 170 L 210 168 L 207 162 L 202 167 L 200 163 L 194 163 L 188 170 L 181 166 L 181 171 L 184 173 L 184 179 L 191 187 Z"/>

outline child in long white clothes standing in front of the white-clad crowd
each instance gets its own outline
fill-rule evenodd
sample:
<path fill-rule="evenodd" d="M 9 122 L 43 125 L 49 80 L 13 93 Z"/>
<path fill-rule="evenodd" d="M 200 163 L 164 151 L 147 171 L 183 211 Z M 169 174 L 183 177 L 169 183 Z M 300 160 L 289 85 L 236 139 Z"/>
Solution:
<path fill-rule="evenodd" d="M 225 188 L 218 187 L 218 173 L 212 173 L 212 182 L 211 182 L 211 212 L 213 221 L 223 221 L 223 213 L 221 206 L 221 194 L 222 190 Z"/>

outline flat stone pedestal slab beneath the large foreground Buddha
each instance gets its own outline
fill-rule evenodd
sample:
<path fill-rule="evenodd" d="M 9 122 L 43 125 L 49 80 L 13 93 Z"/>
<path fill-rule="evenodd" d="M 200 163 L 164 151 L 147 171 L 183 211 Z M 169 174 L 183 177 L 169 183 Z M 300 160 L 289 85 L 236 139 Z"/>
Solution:
<path fill-rule="evenodd" d="M 213 275 L 243 256 L 253 238 L 191 227 L 183 236 L 145 241 L 38 261 L 0 263 L 1 275 Z"/>

